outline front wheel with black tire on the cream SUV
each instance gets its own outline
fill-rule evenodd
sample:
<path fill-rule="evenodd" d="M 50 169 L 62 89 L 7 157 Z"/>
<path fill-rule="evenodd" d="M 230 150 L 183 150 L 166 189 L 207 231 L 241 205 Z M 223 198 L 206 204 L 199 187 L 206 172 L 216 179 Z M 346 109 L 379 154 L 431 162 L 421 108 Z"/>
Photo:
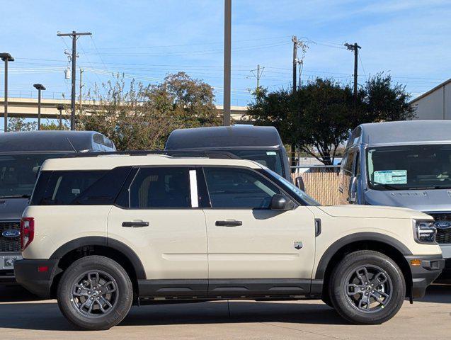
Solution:
<path fill-rule="evenodd" d="M 333 269 L 329 297 L 338 314 L 349 322 L 381 324 L 401 308 L 406 282 L 399 266 L 388 256 L 377 251 L 355 251 Z"/>

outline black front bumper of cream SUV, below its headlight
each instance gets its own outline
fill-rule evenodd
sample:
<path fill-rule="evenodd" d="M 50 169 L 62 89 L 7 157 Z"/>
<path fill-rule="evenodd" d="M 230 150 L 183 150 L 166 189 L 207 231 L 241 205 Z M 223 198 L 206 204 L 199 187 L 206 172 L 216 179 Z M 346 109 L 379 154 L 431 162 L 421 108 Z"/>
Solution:
<path fill-rule="evenodd" d="M 405 256 L 412 274 L 411 297 L 423 297 L 428 285 L 438 278 L 445 266 L 445 260 L 442 255 L 420 255 Z M 412 260 L 420 260 L 419 266 L 413 266 Z"/>

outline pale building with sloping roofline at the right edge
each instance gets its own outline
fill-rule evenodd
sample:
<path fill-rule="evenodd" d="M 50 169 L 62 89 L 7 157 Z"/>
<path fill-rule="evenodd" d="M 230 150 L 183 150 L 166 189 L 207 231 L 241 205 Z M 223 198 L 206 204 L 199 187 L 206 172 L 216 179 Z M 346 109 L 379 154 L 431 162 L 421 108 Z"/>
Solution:
<path fill-rule="evenodd" d="M 451 120 L 451 79 L 411 101 L 416 119 Z"/>

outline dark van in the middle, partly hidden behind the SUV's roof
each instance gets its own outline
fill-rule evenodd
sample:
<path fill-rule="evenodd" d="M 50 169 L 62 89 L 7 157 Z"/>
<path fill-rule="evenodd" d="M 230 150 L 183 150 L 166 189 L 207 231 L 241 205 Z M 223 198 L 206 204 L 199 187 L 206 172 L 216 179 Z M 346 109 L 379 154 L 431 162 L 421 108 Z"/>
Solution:
<path fill-rule="evenodd" d="M 173 130 L 165 150 L 227 151 L 292 181 L 285 146 L 273 126 L 234 125 Z"/>

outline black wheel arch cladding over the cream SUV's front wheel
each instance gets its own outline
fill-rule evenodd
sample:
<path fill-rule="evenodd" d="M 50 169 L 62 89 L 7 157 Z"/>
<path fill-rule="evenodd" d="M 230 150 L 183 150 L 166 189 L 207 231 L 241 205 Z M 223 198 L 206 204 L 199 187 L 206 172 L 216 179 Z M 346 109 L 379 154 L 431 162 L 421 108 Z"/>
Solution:
<path fill-rule="evenodd" d="M 412 276 L 404 256 L 412 255 L 411 251 L 397 239 L 377 232 L 360 232 L 342 237 L 327 249 L 316 268 L 315 280 L 323 282 L 323 294 L 327 294 L 329 277 L 332 269 L 343 259 L 345 254 L 358 250 L 374 250 L 389 256 L 399 266 L 406 280 L 406 296 L 411 295 Z"/>

